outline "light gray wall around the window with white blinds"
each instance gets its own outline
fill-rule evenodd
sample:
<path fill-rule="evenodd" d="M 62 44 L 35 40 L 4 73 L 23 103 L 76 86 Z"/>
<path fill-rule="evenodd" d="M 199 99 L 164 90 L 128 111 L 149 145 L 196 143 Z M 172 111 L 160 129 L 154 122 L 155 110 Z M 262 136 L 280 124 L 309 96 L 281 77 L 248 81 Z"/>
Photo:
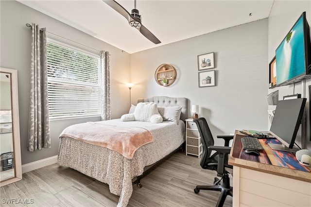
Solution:
<path fill-rule="evenodd" d="M 36 23 L 46 27 L 49 33 L 59 35 L 86 45 L 95 50 L 109 51 L 111 68 L 111 117 L 120 118 L 129 109 L 129 89 L 124 85 L 130 81 L 130 54 L 122 52 L 99 39 L 76 30 L 54 18 L 48 17 L 17 1 L 0 1 L 0 66 L 17 69 L 19 125 L 22 164 L 34 162 L 58 154 L 59 134 L 74 123 L 85 121 L 99 121 L 100 118 L 73 119 L 51 121 L 50 149 L 36 152 L 27 151 L 28 113 L 30 93 L 30 57 L 31 57 L 31 29 L 26 23 Z M 49 37 L 49 34 L 48 34 Z M 122 60 L 122 61 L 120 61 Z M 124 98 L 126 97 L 126 98 Z M 120 101 L 122 100 L 122 101 Z"/>

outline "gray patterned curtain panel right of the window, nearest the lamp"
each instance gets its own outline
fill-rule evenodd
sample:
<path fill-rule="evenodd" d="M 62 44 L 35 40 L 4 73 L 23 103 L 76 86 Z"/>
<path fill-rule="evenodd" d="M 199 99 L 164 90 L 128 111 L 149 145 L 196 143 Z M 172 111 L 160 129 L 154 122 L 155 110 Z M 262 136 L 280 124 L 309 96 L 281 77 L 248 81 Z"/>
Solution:
<path fill-rule="evenodd" d="M 101 51 L 101 78 L 102 78 L 102 121 L 110 120 L 110 74 L 109 52 Z"/>

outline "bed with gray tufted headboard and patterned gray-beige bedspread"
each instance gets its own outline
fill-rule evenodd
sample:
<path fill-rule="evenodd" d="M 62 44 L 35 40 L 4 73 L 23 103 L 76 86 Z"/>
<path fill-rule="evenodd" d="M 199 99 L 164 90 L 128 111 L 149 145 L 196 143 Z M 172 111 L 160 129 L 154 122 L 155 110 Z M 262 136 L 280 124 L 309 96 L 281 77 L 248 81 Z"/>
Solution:
<path fill-rule="evenodd" d="M 100 128 L 100 130 L 106 130 L 105 132 L 107 132 L 109 131 L 107 130 L 109 127 L 116 128 L 116 130 L 118 130 L 118 127 L 120 127 L 120 130 L 121 128 L 129 130 L 132 130 L 132 128 L 133 130 L 141 129 L 145 130 L 142 133 L 150 133 L 153 140 L 147 140 L 145 144 L 135 149 L 134 152 L 124 154 L 124 152 L 120 153 L 118 150 L 117 152 L 111 149 L 110 145 L 94 144 L 87 139 L 77 139 L 74 135 L 67 133 L 70 131 L 67 128 L 60 135 L 58 165 L 72 168 L 108 184 L 111 193 L 120 195 L 118 207 L 127 206 L 133 192 L 133 178 L 140 177 L 144 169 L 165 159 L 166 156 L 178 150 L 185 142 L 184 121 L 187 119 L 188 113 L 188 100 L 186 98 L 156 96 L 138 99 L 138 105 L 142 103 L 155 103 L 159 112 L 161 112 L 160 109 L 162 110 L 162 113 L 159 114 L 163 117 L 164 121 L 160 123 L 124 121 L 124 119 L 121 121 L 123 116 L 125 116 L 123 115 L 121 119 L 83 123 L 88 124 L 87 128 L 89 130 L 85 130 L 87 132 L 82 132 L 84 130 L 80 130 L 80 125 L 78 127 L 73 126 L 75 128 L 71 130 L 76 134 L 84 133 L 83 136 L 85 137 L 100 137 L 90 130 Z M 179 109 L 181 108 L 179 120 L 166 121 L 170 119 L 167 119 L 167 113 L 163 115 L 163 110 L 167 112 L 167 110 L 176 108 L 176 106 Z M 135 106 L 132 106 L 131 109 L 133 107 Z M 135 110 L 137 112 L 138 109 Z M 133 114 L 130 113 L 128 115 L 131 116 Z M 81 132 L 78 132 L 79 130 Z M 123 136 L 126 133 L 121 132 L 121 134 Z M 111 140 L 109 143 L 111 143 Z"/>

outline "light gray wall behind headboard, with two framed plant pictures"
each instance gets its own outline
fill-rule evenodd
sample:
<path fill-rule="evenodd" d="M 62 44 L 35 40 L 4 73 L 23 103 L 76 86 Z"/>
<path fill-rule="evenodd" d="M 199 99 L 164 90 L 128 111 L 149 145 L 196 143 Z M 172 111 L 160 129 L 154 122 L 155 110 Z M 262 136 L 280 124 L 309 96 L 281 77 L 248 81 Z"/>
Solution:
<path fill-rule="evenodd" d="M 199 117 L 207 119 L 214 136 L 234 133 L 236 129 L 265 131 L 267 48 L 268 20 L 262 19 L 134 53 L 131 81 L 136 85 L 132 88 L 132 104 L 141 97 L 186 97 L 190 105 L 200 105 Z M 198 87 L 197 55 L 209 52 L 215 52 L 216 86 Z M 171 86 L 155 82 L 155 70 L 163 63 L 177 70 Z"/>

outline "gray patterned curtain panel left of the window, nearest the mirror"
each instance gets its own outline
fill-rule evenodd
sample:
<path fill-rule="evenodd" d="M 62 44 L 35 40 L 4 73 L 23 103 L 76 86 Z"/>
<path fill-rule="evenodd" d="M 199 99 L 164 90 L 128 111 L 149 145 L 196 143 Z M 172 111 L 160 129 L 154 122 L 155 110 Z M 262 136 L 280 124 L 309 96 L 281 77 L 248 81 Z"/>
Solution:
<path fill-rule="evenodd" d="M 28 125 L 28 151 L 51 148 L 48 73 L 47 32 L 32 24 L 31 90 Z"/>

